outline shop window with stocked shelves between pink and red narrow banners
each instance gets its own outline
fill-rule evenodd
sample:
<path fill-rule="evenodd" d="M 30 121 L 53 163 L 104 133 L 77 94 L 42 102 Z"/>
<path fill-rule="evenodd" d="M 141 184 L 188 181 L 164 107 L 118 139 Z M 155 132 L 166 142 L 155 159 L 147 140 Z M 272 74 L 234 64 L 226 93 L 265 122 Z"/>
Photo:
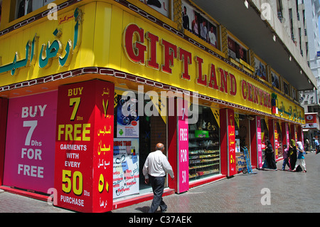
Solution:
<path fill-rule="evenodd" d="M 198 107 L 198 122 L 189 125 L 189 181 L 220 174 L 219 110 Z"/>

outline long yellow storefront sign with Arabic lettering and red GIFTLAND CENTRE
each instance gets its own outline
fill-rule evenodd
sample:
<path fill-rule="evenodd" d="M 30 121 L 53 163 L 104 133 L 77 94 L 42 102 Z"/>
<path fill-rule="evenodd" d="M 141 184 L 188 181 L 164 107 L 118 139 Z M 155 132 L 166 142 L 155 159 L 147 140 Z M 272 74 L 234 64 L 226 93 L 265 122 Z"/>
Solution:
<path fill-rule="evenodd" d="M 71 14 L 73 19 L 61 23 Z M 14 38 L 1 37 L 0 86 L 77 68 L 112 68 L 271 114 L 271 85 L 133 14 L 117 3 L 95 1 L 13 33 Z M 304 123 L 302 107 L 279 93 L 277 99 L 275 116 Z"/>

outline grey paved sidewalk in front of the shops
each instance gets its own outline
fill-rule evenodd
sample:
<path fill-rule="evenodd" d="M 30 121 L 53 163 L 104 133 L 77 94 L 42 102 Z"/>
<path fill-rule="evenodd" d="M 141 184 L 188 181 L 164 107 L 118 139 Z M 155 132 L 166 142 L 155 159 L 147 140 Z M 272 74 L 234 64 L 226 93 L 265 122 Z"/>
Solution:
<path fill-rule="evenodd" d="M 262 171 L 238 174 L 183 194 L 164 196 L 166 213 L 313 213 L 320 212 L 320 154 L 308 153 L 306 173 Z M 282 162 L 277 163 L 282 169 Z M 265 204 L 265 205 L 262 205 Z M 269 205 L 270 204 L 270 205 Z M 146 213 L 151 201 L 144 201 L 112 213 Z M 0 213 L 72 213 L 44 201 L 0 191 Z"/>

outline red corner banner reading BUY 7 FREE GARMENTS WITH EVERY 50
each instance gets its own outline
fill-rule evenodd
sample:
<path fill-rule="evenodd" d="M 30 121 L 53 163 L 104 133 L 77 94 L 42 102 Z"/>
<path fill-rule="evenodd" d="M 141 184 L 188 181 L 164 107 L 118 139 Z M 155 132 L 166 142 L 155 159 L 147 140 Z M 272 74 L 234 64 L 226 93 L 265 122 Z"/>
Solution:
<path fill-rule="evenodd" d="M 102 80 L 58 90 L 55 189 L 58 206 L 112 210 L 114 85 Z"/>

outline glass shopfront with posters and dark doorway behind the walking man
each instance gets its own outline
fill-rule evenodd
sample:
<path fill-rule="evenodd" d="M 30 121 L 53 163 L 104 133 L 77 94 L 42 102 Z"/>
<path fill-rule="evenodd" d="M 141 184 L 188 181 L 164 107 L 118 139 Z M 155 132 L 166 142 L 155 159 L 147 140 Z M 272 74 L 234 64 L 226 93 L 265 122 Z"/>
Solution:
<path fill-rule="evenodd" d="M 114 199 L 152 191 L 144 183 L 144 162 L 157 143 L 167 147 L 166 118 L 147 112 L 151 100 L 146 97 L 142 102 L 144 115 L 139 116 L 140 103 L 134 95 L 135 98 L 126 97 L 116 90 L 114 96 Z M 129 115 L 124 115 L 122 109 Z"/>

